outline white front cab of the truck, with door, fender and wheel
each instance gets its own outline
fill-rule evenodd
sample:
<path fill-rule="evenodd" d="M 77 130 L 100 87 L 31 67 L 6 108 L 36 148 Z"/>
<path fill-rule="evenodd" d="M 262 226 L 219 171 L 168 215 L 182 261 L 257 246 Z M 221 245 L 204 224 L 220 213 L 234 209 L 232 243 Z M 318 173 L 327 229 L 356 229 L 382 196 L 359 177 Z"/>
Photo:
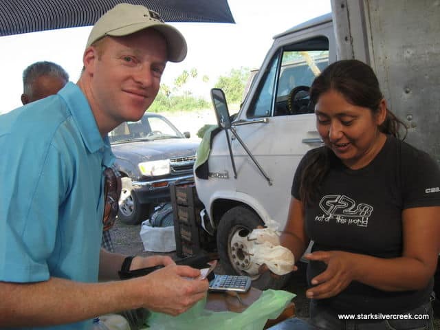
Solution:
<path fill-rule="evenodd" d="M 269 219 L 280 229 L 285 224 L 295 168 L 307 151 L 322 143 L 313 109 L 307 107 L 308 94 L 301 98 L 300 92 L 292 100 L 291 91 L 309 87 L 336 60 L 334 45 L 331 14 L 276 36 L 263 63 L 265 69 L 253 79 L 232 122 L 258 165 L 233 134 L 227 137 L 222 130 L 212 140 L 208 177 L 195 175 L 197 194 L 212 222 L 205 227 L 217 230 L 217 246 L 227 272 L 257 276 L 257 267 L 246 254 L 245 236 Z M 232 250 L 234 245 L 239 248 Z"/>

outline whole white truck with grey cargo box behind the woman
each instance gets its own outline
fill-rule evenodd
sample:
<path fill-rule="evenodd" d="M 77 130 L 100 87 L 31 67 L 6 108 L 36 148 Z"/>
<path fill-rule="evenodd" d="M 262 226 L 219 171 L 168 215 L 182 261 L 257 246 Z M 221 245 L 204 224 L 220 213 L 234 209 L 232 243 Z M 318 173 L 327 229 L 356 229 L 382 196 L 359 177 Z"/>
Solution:
<path fill-rule="evenodd" d="M 232 122 L 221 91 L 213 92 L 222 129 L 211 137 L 207 161 L 195 168 L 195 184 L 206 207 L 203 227 L 217 235 L 226 272 L 259 277 L 247 235 L 270 219 L 283 229 L 296 167 L 322 145 L 307 88 L 337 58 L 373 67 L 388 104 L 409 127 L 406 141 L 440 162 L 440 6 L 434 2 L 332 0 L 332 14 L 274 37 Z"/>

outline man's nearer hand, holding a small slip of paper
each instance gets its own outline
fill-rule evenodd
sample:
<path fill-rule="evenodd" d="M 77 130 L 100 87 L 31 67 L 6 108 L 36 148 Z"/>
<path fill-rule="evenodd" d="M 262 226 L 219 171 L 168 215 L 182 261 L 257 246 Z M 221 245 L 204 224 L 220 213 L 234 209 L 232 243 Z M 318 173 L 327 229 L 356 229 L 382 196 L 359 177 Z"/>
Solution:
<path fill-rule="evenodd" d="M 183 313 L 206 296 L 208 281 L 192 279 L 199 275 L 199 270 L 189 266 L 170 264 L 136 278 L 140 292 L 146 293 L 143 307 L 173 316 Z"/>

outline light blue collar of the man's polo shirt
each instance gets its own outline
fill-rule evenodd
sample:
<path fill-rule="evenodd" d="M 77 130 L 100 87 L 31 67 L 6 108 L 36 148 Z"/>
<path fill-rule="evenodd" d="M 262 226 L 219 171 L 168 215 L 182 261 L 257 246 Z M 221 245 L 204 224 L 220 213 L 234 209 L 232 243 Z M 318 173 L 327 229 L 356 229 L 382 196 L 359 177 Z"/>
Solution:
<path fill-rule="evenodd" d="M 114 155 L 111 153 L 109 137 L 106 136 L 103 139 L 100 135 L 94 114 L 91 112 L 83 91 L 76 84 L 69 82 L 61 91 L 58 91 L 58 94 L 65 100 L 86 148 L 90 153 L 102 152 L 104 154 L 103 165 L 111 166 Z"/>

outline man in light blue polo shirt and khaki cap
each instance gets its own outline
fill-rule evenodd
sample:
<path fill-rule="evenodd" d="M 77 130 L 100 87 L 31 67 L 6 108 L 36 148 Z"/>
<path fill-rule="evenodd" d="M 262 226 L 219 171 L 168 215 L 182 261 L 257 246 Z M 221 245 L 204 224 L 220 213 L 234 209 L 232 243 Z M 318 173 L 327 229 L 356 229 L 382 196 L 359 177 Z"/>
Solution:
<path fill-rule="evenodd" d="M 144 307 L 177 315 L 208 289 L 199 270 L 164 256 L 100 250 L 107 133 L 140 120 L 184 37 L 140 5 L 116 5 L 91 30 L 77 84 L 0 118 L 0 327 L 87 329 L 91 318 Z M 129 265 L 131 263 L 131 266 Z M 165 265 L 147 276 L 97 283 Z"/>

